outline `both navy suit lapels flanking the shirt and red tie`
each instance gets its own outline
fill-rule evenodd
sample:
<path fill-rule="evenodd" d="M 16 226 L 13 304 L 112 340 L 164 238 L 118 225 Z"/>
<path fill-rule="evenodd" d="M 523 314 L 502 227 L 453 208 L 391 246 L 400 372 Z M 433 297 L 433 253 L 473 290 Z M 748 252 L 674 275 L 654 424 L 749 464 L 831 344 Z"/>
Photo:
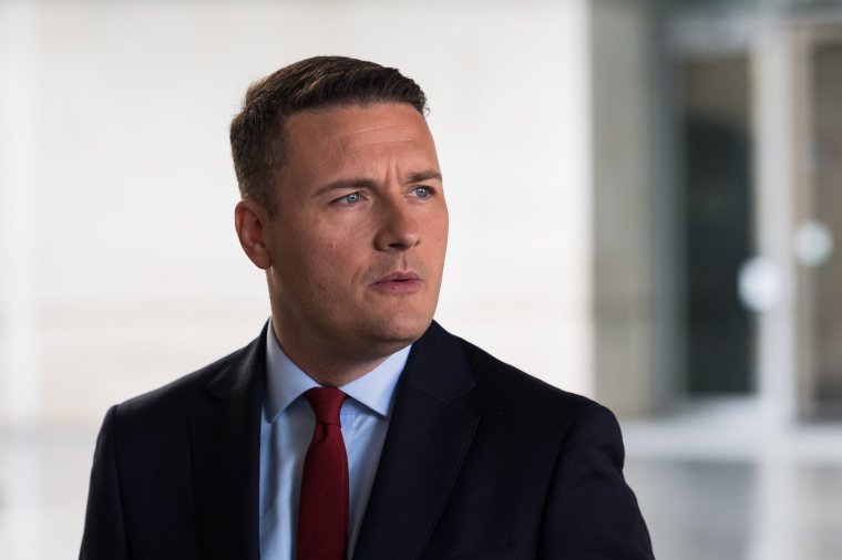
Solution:
<path fill-rule="evenodd" d="M 207 385 L 219 404 L 192 421 L 208 558 L 259 558 L 260 414 L 266 329 Z M 353 558 L 420 558 L 480 418 L 454 401 L 475 385 L 459 339 L 433 322 L 412 346 Z"/>

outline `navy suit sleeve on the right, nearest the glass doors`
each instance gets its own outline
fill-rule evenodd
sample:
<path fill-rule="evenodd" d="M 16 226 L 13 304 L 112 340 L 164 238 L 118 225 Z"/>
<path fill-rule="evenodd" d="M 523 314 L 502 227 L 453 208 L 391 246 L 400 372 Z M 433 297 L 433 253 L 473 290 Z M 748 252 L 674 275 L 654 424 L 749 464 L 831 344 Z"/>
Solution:
<path fill-rule="evenodd" d="M 556 458 L 540 558 L 654 558 L 637 499 L 623 477 L 624 456 L 614 414 L 595 403 L 586 406 Z"/>

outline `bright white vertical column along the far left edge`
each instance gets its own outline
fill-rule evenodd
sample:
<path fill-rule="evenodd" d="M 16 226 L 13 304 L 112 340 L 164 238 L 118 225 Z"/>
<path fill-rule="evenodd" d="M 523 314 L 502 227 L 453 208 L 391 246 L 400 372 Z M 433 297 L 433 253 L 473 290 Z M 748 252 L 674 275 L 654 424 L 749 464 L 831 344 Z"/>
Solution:
<path fill-rule="evenodd" d="M 0 423 L 31 425 L 41 417 L 37 199 L 38 2 L 2 2 L 0 53 L 0 251 L 2 382 Z"/>

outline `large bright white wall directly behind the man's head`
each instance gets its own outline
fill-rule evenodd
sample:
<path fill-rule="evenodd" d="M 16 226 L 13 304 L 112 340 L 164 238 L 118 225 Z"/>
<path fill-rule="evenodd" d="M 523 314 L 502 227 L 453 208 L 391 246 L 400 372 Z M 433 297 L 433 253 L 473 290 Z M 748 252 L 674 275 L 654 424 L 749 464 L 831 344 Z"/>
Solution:
<path fill-rule="evenodd" d="M 0 175 L 17 216 L 0 230 L 0 424 L 96 423 L 257 334 L 227 125 L 251 80 L 327 53 L 428 93 L 452 228 L 438 319 L 591 392 L 587 0 L 12 0 L 0 18 L 23 29 L 0 43 L 17 84 L 0 124 L 32 133 L 0 144 L 18 173 Z"/>

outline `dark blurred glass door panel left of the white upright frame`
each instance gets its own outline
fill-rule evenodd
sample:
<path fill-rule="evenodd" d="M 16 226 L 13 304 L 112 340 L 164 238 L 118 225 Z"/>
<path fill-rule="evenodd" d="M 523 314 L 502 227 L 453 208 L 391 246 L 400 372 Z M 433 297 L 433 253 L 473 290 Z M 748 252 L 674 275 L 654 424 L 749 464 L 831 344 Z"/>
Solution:
<path fill-rule="evenodd" d="M 686 391 L 754 390 L 752 318 L 738 276 L 752 253 L 751 123 L 746 55 L 680 69 Z"/>

